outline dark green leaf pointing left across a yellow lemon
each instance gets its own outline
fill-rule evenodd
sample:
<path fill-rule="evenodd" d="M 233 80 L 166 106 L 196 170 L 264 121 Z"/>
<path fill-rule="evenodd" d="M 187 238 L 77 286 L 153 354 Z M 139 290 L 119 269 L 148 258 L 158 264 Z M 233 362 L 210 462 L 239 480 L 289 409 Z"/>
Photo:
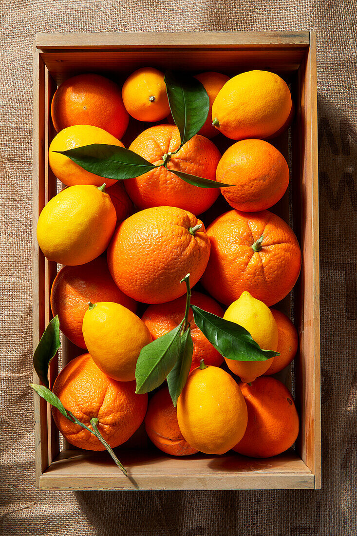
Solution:
<path fill-rule="evenodd" d="M 114 180 L 139 177 L 155 167 L 133 151 L 116 145 L 93 143 L 55 152 L 64 154 L 94 175 Z"/>

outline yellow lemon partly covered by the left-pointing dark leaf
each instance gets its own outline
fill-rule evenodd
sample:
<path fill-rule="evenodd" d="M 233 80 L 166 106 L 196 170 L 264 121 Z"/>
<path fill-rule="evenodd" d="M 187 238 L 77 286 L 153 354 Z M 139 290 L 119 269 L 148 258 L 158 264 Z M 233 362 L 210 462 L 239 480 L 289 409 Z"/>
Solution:
<path fill-rule="evenodd" d="M 64 154 L 56 153 L 55 151 L 67 151 L 75 147 L 84 147 L 93 143 L 102 143 L 106 145 L 117 145 L 124 147 L 122 142 L 109 134 L 106 130 L 100 129 L 99 126 L 92 125 L 73 125 L 58 132 L 57 136 L 52 140 L 48 150 L 48 163 L 54 175 L 66 184 L 94 184 L 100 186 L 106 182 L 107 186 L 115 184 L 116 181 L 112 178 L 106 178 L 99 175 L 94 175 L 80 167 Z"/>

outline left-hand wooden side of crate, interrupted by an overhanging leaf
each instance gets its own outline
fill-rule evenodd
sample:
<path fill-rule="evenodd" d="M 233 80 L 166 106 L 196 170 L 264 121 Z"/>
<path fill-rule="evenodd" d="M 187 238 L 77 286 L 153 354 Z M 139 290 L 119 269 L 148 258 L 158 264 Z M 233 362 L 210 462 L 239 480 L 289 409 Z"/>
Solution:
<path fill-rule="evenodd" d="M 33 171 L 32 171 L 32 347 L 33 351 L 39 344 L 46 325 L 45 318 L 45 265 L 44 256 L 36 240 L 36 226 L 39 214 L 44 206 L 44 64 L 39 51 L 34 47 L 33 53 Z M 40 383 L 38 375 L 33 371 L 33 383 Z M 35 413 L 35 471 L 39 485 L 40 476 L 48 467 L 47 440 L 47 404 L 34 393 Z"/>

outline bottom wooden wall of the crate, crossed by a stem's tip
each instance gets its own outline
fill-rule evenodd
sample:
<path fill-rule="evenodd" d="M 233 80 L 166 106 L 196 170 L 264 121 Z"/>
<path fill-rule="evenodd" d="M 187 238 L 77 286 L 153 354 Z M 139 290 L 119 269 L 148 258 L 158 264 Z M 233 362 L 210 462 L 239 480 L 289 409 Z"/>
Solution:
<path fill-rule="evenodd" d="M 125 478 L 107 453 L 63 451 L 40 480 L 41 489 L 311 489 L 314 475 L 288 451 L 268 459 L 195 455 L 165 456 L 158 451 L 117 450 Z M 139 461 L 138 461 L 139 460 Z"/>

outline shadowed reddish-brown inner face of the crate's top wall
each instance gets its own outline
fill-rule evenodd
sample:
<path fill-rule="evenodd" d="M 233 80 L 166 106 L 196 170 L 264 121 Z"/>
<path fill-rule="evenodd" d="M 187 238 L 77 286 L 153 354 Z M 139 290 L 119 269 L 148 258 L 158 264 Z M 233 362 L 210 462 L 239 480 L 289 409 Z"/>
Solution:
<path fill-rule="evenodd" d="M 117 78 L 150 65 L 165 71 L 182 69 L 191 72 L 215 70 L 236 75 L 250 69 L 270 69 L 276 72 L 293 71 L 303 59 L 303 48 L 242 49 L 211 48 L 122 48 L 121 50 L 51 50 L 41 52 L 56 83 L 78 73 L 97 72 Z"/>

